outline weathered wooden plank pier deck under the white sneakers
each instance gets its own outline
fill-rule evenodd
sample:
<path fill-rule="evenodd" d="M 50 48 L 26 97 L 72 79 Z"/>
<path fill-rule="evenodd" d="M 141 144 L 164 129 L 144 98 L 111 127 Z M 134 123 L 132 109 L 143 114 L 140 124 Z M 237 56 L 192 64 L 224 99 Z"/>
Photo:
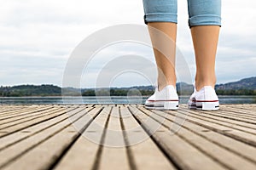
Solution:
<path fill-rule="evenodd" d="M 255 170 L 256 105 L 0 105 L 0 169 Z"/>

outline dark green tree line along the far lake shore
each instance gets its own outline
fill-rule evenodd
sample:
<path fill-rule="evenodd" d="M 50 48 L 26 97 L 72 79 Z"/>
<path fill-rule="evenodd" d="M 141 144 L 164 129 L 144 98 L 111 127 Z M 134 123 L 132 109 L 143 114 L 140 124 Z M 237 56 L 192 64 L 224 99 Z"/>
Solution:
<path fill-rule="evenodd" d="M 192 90 L 177 89 L 177 94 L 190 95 Z M 217 89 L 218 95 L 256 95 L 255 89 Z M 83 96 L 127 96 L 154 94 L 154 88 L 100 88 L 100 89 L 82 89 Z M 70 93 L 70 95 L 78 95 Z M 0 97 L 24 97 L 24 96 L 61 96 L 61 88 L 54 85 L 21 85 L 14 87 L 0 87 Z"/>

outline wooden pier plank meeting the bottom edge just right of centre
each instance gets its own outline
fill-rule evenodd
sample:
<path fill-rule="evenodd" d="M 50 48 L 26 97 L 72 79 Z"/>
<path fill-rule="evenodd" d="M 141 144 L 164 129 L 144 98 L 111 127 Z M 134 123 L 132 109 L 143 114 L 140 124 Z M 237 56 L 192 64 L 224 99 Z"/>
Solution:
<path fill-rule="evenodd" d="M 126 106 L 120 107 L 120 114 L 124 126 L 123 132 L 125 132 L 125 139 L 127 140 L 127 150 L 131 152 L 128 157 L 129 160 L 134 161 L 134 168 L 132 169 L 176 169 L 154 144 L 154 141 L 135 120 Z"/>

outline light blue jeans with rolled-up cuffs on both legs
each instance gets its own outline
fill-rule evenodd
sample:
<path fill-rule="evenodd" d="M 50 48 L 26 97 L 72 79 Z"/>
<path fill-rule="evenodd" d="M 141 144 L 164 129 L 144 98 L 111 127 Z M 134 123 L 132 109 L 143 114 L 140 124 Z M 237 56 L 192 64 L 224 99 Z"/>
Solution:
<path fill-rule="evenodd" d="M 143 0 L 144 20 L 177 23 L 177 0 Z M 221 26 L 221 0 L 188 0 L 189 26 Z"/>

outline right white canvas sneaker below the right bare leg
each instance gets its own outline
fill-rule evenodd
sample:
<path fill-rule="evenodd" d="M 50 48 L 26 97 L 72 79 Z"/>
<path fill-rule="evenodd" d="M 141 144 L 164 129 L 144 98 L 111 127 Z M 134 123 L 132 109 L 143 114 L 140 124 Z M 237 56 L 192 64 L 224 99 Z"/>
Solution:
<path fill-rule="evenodd" d="M 212 86 L 205 86 L 200 91 L 194 88 L 194 93 L 189 99 L 189 109 L 217 111 L 218 107 L 218 96 Z"/>

